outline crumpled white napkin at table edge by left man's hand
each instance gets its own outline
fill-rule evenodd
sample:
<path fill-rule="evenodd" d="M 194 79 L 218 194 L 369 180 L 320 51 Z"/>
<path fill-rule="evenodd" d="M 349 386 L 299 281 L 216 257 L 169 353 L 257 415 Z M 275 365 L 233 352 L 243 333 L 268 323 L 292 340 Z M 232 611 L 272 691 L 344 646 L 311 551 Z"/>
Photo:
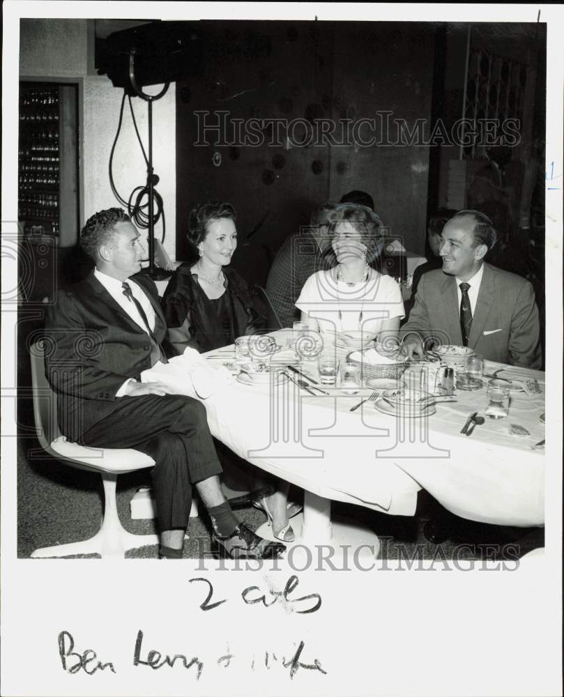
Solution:
<path fill-rule="evenodd" d="M 216 392 L 234 383 L 224 365 L 212 365 L 194 348 L 185 348 L 183 355 L 176 355 L 168 363 L 160 361 L 141 374 L 143 383 L 162 382 L 169 385 L 174 394 L 192 395 L 208 399 Z"/>

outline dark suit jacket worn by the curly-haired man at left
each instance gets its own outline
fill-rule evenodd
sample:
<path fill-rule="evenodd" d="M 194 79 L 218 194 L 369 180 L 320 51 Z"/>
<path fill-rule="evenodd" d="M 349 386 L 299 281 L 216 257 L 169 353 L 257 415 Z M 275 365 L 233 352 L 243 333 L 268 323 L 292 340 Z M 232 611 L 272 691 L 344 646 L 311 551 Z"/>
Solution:
<path fill-rule="evenodd" d="M 153 334 L 166 334 L 158 292 L 146 275 L 132 277 L 155 310 Z M 91 273 L 59 291 L 47 309 L 45 374 L 57 394 L 59 428 L 79 438 L 116 408 L 116 392 L 151 367 L 151 340 Z"/>

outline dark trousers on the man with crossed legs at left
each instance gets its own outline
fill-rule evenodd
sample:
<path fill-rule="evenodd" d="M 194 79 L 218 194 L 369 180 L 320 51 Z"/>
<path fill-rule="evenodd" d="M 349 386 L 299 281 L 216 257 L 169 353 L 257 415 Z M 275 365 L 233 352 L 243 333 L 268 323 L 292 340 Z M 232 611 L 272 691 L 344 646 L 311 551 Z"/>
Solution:
<path fill-rule="evenodd" d="M 155 461 L 151 470 L 160 530 L 185 530 L 192 484 L 220 475 L 206 408 L 183 395 L 121 397 L 116 409 L 80 439 L 91 447 L 132 447 Z"/>

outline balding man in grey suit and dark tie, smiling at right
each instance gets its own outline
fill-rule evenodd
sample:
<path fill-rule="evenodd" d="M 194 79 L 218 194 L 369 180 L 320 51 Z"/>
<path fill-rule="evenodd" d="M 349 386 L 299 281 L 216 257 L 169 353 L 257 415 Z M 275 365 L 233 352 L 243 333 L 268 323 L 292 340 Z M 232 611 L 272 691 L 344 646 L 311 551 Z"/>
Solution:
<path fill-rule="evenodd" d="M 478 210 L 460 210 L 445 224 L 442 269 L 421 277 L 415 305 L 402 327 L 406 355 L 422 356 L 423 342 L 438 342 L 469 346 L 487 360 L 540 369 L 533 286 L 485 263 L 495 243 L 491 220 Z"/>

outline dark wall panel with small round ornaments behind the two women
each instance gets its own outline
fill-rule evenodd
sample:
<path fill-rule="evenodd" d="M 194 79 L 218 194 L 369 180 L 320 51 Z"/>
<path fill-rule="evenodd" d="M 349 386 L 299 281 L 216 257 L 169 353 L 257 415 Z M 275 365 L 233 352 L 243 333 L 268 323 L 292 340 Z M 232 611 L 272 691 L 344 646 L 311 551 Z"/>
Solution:
<path fill-rule="evenodd" d="M 284 238 L 307 224 L 310 212 L 327 200 L 361 189 L 372 194 L 376 211 L 402 236 L 409 250 L 425 247 L 428 150 L 422 146 L 363 147 L 346 135 L 340 120 L 417 118 L 431 109 L 434 26 L 341 22 L 216 22 L 206 27 L 205 74 L 179 83 L 176 91 L 177 259 L 188 258 L 185 243 L 191 206 L 205 199 L 231 201 L 238 210 L 240 247 L 234 266 L 251 282 L 264 282 L 273 253 Z M 231 129 L 221 140 L 204 132 L 243 119 L 294 119 L 290 142 L 270 128 L 261 143 L 235 144 Z M 316 143 L 312 126 L 335 124 L 333 141 Z M 393 125 L 393 124 L 392 124 Z M 308 130 L 308 128 L 310 130 Z M 349 127 L 351 128 L 351 127 Z M 284 125 L 280 133 L 285 133 Z M 363 127 L 368 140 L 374 131 Z M 390 130 L 395 141 L 395 130 Z M 292 145 L 291 141 L 294 141 Z M 198 141 L 207 144 L 197 145 Z M 298 143 L 305 142 L 305 146 Z M 338 143 L 344 142 L 344 145 Z M 221 162 L 218 164 L 219 157 Z"/>

